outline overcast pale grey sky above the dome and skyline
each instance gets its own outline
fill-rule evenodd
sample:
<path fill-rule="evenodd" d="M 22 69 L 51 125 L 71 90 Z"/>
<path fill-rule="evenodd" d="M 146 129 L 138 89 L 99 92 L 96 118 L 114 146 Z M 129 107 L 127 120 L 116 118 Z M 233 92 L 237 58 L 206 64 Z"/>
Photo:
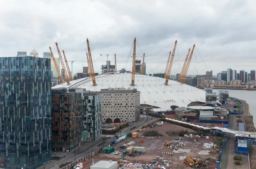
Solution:
<path fill-rule="evenodd" d="M 148 74 L 165 71 L 177 39 L 171 74 L 180 73 L 193 44 L 188 74 L 250 71 L 256 69 L 255 6 L 253 0 L 0 0 L 0 56 L 35 49 L 43 57 L 50 45 L 58 57 L 57 41 L 68 60 L 76 60 L 73 72 L 81 72 L 88 37 L 95 72 L 107 60 L 99 54 L 114 53 L 117 68 L 131 70 L 136 37 Z"/>

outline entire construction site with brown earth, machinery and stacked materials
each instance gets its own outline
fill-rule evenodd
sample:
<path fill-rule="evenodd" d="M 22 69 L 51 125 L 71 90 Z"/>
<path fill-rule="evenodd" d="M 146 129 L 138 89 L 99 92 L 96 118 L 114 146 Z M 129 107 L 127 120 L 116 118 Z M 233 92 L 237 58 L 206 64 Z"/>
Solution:
<path fill-rule="evenodd" d="M 198 135 L 192 129 L 167 122 L 145 127 L 119 143 L 105 147 L 93 161 L 118 161 L 121 168 L 215 169 L 223 138 Z M 161 125 L 160 125 L 161 124 Z M 186 132 L 185 135 L 180 133 Z M 87 168 L 90 166 L 87 163 Z"/>

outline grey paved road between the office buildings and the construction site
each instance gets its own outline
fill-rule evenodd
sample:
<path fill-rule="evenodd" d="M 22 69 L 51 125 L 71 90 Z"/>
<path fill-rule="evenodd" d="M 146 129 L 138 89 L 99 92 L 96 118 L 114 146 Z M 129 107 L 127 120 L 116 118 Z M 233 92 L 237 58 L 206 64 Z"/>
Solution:
<path fill-rule="evenodd" d="M 144 118 L 143 118 L 144 116 Z M 133 126 L 142 126 L 143 124 L 146 124 L 148 123 L 149 121 L 154 120 L 155 118 L 154 117 L 151 117 L 151 116 L 147 116 L 147 115 L 140 115 L 140 119 L 138 120 L 138 124 L 137 123 L 133 123 L 131 125 Z M 121 130 L 121 134 L 122 136 L 131 132 L 132 130 L 130 130 L 131 127 L 126 127 L 124 129 Z M 119 133 L 116 133 L 116 134 L 119 134 Z M 119 134 L 120 136 L 120 134 Z M 104 146 L 106 146 L 107 144 L 109 144 L 111 141 L 114 141 L 116 140 L 115 137 L 111 137 L 111 138 L 108 138 L 106 140 L 106 143 L 104 143 Z M 102 137 L 99 138 L 97 141 L 84 141 L 81 143 L 81 146 L 79 147 L 79 150 L 78 148 L 76 149 L 76 160 L 77 159 L 80 159 L 82 157 L 84 157 L 85 155 L 99 149 L 101 146 L 97 146 L 98 144 L 101 144 L 102 143 Z M 103 146 L 103 145 L 102 145 Z M 79 152 L 79 153 L 78 153 Z M 45 164 L 45 168 L 46 169 L 55 169 L 55 165 L 56 165 L 56 168 L 59 169 L 59 165 L 61 163 L 64 163 L 66 161 L 75 161 L 75 151 L 73 152 L 56 152 L 56 155 L 59 155 L 59 156 L 65 156 L 65 158 L 61 159 L 60 161 L 51 161 L 47 164 Z M 52 152 L 52 156 L 55 156 L 55 152 Z M 44 169 L 44 166 L 41 166 L 41 167 L 38 167 L 38 169 Z"/>

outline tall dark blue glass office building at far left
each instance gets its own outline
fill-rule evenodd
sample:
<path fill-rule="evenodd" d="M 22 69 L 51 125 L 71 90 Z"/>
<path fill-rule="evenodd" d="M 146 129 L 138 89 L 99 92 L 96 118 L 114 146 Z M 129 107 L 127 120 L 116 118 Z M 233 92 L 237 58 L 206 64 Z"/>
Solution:
<path fill-rule="evenodd" d="M 50 62 L 0 58 L 0 168 L 35 169 L 52 158 Z"/>

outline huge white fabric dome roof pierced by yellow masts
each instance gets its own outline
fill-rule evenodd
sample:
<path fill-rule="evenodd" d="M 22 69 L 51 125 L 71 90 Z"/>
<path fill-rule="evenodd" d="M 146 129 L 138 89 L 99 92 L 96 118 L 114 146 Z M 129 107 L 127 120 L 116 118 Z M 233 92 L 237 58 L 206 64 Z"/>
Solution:
<path fill-rule="evenodd" d="M 85 91 L 100 92 L 106 88 L 135 88 L 140 91 L 140 105 L 149 105 L 165 110 L 176 107 L 195 106 L 205 103 L 205 91 L 180 82 L 154 76 L 135 74 L 134 86 L 131 86 L 131 73 L 116 72 L 113 74 L 100 74 L 95 76 L 96 85 L 93 86 L 92 77 L 77 79 L 70 85 L 63 83 L 55 88 L 83 88 Z"/>

